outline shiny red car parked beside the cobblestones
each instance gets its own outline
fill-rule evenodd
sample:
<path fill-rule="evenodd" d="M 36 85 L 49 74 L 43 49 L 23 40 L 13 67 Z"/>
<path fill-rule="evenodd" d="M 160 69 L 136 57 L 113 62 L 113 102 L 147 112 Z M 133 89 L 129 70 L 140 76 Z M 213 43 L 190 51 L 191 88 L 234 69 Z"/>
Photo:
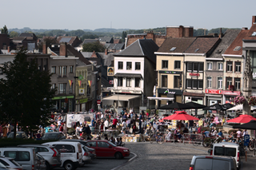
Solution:
<path fill-rule="evenodd" d="M 94 148 L 97 157 L 115 157 L 121 159 L 130 156 L 129 148 L 117 146 L 108 140 L 87 140 L 90 148 Z"/>

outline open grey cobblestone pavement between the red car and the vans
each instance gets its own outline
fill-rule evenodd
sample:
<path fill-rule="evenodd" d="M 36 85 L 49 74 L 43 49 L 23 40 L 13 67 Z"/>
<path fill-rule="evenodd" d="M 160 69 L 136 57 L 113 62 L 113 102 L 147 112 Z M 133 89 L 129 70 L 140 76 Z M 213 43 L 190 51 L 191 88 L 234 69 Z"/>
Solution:
<path fill-rule="evenodd" d="M 136 159 L 118 169 L 170 169 L 188 170 L 194 155 L 206 155 L 209 148 L 193 144 L 150 144 L 150 142 L 126 143 L 131 152 L 138 155 Z M 250 154 L 251 155 L 251 154 Z M 242 158 L 242 168 L 255 169 L 255 157 Z"/>

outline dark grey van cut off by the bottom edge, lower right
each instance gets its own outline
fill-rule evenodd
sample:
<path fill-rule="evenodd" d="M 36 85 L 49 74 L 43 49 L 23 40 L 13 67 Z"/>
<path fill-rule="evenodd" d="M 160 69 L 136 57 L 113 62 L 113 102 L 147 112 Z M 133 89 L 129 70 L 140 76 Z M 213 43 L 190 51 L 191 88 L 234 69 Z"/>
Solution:
<path fill-rule="evenodd" d="M 190 170 L 237 170 L 231 156 L 193 156 Z"/>

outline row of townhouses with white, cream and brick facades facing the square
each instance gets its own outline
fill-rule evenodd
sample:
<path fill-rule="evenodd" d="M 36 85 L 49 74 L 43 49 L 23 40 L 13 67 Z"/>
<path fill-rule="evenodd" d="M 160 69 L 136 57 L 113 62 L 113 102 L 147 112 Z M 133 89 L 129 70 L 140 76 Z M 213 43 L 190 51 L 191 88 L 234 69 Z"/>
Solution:
<path fill-rule="evenodd" d="M 193 26 L 167 26 L 166 35 L 127 35 L 126 49 L 114 54 L 113 95 L 103 104 L 118 108 L 194 101 L 233 103 L 242 95 L 246 57 L 256 95 L 256 16 L 250 30 L 193 36 Z M 158 48 L 159 46 L 159 48 Z"/>

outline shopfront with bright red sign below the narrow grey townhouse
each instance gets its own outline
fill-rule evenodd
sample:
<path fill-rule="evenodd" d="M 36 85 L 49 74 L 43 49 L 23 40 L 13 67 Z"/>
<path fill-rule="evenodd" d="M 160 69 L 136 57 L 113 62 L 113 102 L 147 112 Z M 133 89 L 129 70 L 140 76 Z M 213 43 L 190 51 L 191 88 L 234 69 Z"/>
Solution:
<path fill-rule="evenodd" d="M 222 104 L 222 90 L 206 89 L 206 105 Z"/>

